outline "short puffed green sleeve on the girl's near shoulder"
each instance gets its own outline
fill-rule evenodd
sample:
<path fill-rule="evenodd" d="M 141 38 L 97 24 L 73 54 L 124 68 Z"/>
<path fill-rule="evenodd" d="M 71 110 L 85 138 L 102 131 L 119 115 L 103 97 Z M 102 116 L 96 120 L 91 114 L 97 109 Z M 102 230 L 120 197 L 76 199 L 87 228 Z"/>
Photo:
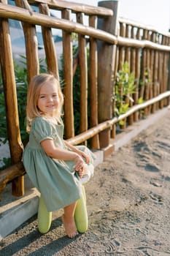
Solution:
<path fill-rule="evenodd" d="M 31 127 L 31 132 L 34 135 L 35 140 L 41 143 L 42 140 L 54 140 L 56 137 L 56 131 L 52 124 L 47 119 L 37 117 Z"/>

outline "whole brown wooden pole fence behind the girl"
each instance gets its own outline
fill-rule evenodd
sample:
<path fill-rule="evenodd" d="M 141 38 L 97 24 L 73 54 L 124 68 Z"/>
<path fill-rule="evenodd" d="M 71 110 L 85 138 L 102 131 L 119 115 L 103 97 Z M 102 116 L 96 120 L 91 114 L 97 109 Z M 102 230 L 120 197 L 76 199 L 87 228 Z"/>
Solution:
<path fill-rule="evenodd" d="M 16 7 L 7 4 L 7 0 L 0 0 L 0 61 L 12 164 L 0 172 L 0 195 L 7 183 L 12 181 L 12 195 L 21 196 L 24 194 L 25 170 L 8 19 L 20 20 L 23 26 L 28 81 L 39 73 L 36 25 L 42 27 L 47 70 L 59 78 L 52 28 L 61 29 L 66 139 L 74 145 L 89 140 L 93 149 L 109 146 L 110 138 L 116 137 L 117 122 L 123 120 L 125 129 L 134 121 L 169 104 L 170 34 L 120 19 L 118 1 L 100 1 L 98 7 L 62 0 L 15 0 L 15 4 Z M 39 7 L 39 12 L 34 12 L 32 6 Z M 50 16 L 51 10 L 58 10 L 61 18 Z M 73 15 L 76 21 L 72 21 Z M 78 35 L 75 56 L 72 52 L 73 33 Z M 125 99 L 131 108 L 116 117 L 115 77 L 125 61 L 134 72 L 136 89 L 130 95 L 133 102 L 129 102 L 128 97 Z M 73 96 L 77 89 L 74 89 L 73 78 L 77 67 L 80 68 L 80 135 L 75 135 L 74 131 Z M 140 84 L 146 72 L 147 85 Z M 123 88 L 120 88 L 121 91 Z M 142 104 L 138 104 L 139 98 L 143 99 Z"/>

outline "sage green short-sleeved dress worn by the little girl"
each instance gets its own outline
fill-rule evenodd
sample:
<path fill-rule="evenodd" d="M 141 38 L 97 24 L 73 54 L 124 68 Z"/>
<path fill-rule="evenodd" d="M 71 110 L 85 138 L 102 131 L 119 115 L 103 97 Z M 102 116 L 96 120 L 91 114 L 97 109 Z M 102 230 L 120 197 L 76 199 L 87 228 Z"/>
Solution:
<path fill-rule="evenodd" d="M 29 142 L 23 151 L 23 165 L 34 186 L 45 199 L 47 211 L 56 211 L 69 206 L 82 195 L 81 179 L 74 170 L 74 161 L 63 161 L 47 157 L 41 146 L 42 140 L 53 139 L 55 146 L 65 148 L 63 142 L 63 122 L 54 124 L 50 119 L 34 119 L 29 135 Z M 77 146 L 90 157 L 86 168 L 93 176 L 94 154 L 85 146 Z"/>

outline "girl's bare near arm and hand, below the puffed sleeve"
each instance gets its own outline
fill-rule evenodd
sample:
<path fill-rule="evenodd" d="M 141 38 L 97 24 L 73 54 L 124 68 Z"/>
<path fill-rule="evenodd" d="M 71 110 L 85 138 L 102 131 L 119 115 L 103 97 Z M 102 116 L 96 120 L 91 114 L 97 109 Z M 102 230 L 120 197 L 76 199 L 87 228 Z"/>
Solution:
<path fill-rule="evenodd" d="M 48 157 L 58 160 L 73 160 L 75 162 L 74 169 L 77 170 L 79 175 L 84 172 L 84 161 L 80 154 L 76 151 L 69 151 L 64 148 L 56 148 L 53 140 L 42 140 L 41 146 Z"/>

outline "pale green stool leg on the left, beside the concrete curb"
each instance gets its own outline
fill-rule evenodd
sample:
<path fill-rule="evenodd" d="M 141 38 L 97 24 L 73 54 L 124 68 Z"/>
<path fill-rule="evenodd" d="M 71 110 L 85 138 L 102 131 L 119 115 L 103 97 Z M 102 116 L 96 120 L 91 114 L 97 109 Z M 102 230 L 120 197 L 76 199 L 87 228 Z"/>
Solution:
<path fill-rule="evenodd" d="M 50 230 L 52 222 L 52 212 L 47 211 L 47 207 L 45 206 L 45 200 L 40 195 L 39 197 L 39 209 L 38 209 L 38 229 L 39 232 L 44 234 Z"/>

